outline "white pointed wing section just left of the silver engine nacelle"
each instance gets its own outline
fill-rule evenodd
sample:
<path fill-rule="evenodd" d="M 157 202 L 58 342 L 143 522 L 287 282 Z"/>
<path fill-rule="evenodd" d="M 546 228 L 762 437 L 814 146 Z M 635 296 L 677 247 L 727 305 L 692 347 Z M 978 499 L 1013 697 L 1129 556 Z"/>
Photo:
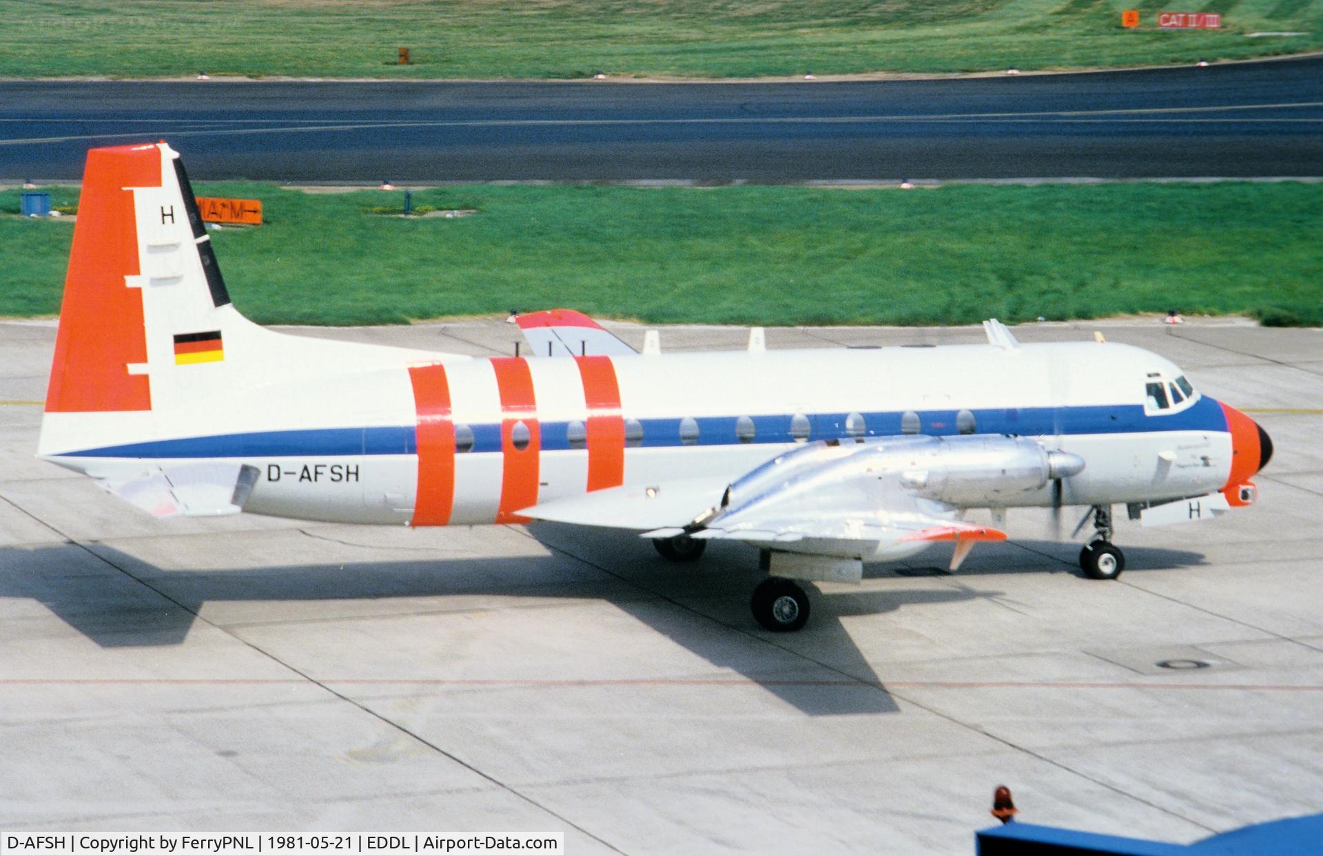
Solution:
<path fill-rule="evenodd" d="M 638 484 L 593 491 L 582 496 L 557 499 L 520 515 L 553 523 L 618 529 L 681 529 L 695 517 L 721 501 L 729 479 L 683 479 L 658 484 Z M 652 536 L 667 537 L 667 536 Z"/>

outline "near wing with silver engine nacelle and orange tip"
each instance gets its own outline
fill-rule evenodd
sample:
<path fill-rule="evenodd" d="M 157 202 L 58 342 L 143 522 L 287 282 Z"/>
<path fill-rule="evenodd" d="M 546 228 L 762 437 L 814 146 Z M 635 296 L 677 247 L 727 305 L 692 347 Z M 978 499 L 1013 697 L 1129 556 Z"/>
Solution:
<path fill-rule="evenodd" d="M 888 558 L 934 541 L 955 544 L 953 570 L 1000 529 L 960 520 L 964 508 L 1041 492 L 1084 460 L 1027 438 L 819 441 L 747 474 L 595 491 L 521 511 L 558 523 L 688 535 L 841 558 Z"/>

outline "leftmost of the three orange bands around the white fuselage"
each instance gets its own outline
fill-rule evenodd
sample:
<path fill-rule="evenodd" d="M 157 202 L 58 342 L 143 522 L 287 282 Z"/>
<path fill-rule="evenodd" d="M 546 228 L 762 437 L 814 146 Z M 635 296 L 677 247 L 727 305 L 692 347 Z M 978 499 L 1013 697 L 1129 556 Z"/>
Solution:
<path fill-rule="evenodd" d="M 450 418 L 450 384 L 443 365 L 409 369 L 413 382 L 418 447 L 418 492 L 410 525 L 443 527 L 455 503 L 455 423 Z"/>

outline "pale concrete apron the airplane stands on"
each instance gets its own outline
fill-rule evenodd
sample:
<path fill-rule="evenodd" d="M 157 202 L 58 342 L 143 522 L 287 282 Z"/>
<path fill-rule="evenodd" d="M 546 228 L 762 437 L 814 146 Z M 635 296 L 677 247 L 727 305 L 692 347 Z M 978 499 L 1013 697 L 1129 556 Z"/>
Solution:
<path fill-rule="evenodd" d="M 1171 841 L 1323 811 L 1323 332 L 1015 332 L 1095 328 L 1266 427 L 1253 508 L 1122 523 L 1115 582 L 1012 513 L 1013 540 L 960 573 L 938 570 L 943 550 L 869 566 L 814 586 L 810 627 L 778 636 L 749 615 L 757 558 L 733 544 L 677 568 L 628 535 L 545 525 L 140 515 L 32 456 L 54 328 L 0 321 L 0 820 L 967 855 L 1000 783 L 1021 820 Z M 516 335 L 295 332 L 474 355 Z M 773 348 L 980 337 L 767 331 Z M 662 331 L 667 349 L 745 339 Z"/>

